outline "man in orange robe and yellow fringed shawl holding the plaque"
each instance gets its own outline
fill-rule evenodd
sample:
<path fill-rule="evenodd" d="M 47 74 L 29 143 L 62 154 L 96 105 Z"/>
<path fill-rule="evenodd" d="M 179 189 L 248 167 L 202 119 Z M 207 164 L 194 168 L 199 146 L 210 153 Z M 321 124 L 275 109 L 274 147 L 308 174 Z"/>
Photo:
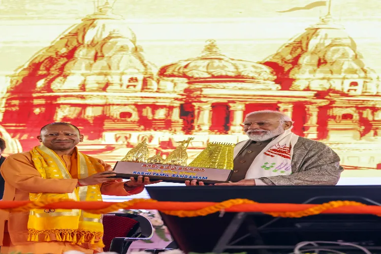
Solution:
<path fill-rule="evenodd" d="M 55 122 L 44 126 L 37 137 L 42 145 L 12 154 L 1 167 L 5 201 L 73 199 L 101 201 L 102 195 L 129 196 L 141 193 L 148 177 L 122 182 L 110 165 L 87 156 L 76 145 L 83 136 L 76 126 Z M 106 171 L 106 172 L 105 172 Z M 102 251 L 102 215 L 78 209 L 0 211 L 1 253 L 84 253 Z"/>

